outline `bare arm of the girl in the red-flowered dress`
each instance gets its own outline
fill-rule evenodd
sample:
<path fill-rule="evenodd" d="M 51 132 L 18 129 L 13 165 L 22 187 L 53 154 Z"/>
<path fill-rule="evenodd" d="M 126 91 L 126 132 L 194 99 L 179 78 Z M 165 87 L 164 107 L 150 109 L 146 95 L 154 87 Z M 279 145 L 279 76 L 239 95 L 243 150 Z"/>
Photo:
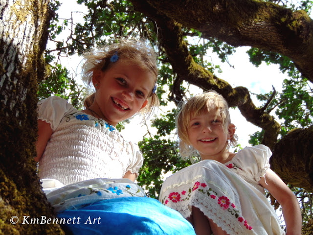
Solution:
<path fill-rule="evenodd" d="M 302 217 L 299 202 L 288 186 L 279 176 L 268 169 L 259 183 L 279 202 L 286 224 L 286 235 L 301 235 Z"/>

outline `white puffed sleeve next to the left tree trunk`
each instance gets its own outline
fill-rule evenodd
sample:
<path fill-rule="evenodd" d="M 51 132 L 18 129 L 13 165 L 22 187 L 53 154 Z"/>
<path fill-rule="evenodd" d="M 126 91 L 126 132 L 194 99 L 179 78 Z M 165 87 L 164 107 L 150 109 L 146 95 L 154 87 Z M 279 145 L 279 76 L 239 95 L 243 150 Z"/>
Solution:
<path fill-rule="evenodd" d="M 50 123 L 54 132 L 65 114 L 73 110 L 67 100 L 59 96 L 51 96 L 38 102 L 38 119 Z"/>

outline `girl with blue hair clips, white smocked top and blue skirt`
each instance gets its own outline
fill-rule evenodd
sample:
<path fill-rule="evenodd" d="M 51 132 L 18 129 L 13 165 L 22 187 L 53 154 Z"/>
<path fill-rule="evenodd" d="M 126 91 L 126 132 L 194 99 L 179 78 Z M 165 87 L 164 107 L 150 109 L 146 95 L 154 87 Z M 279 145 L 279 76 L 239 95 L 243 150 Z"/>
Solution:
<path fill-rule="evenodd" d="M 38 103 L 35 160 L 55 222 L 75 235 L 193 235 L 177 211 L 147 198 L 134 183 L 142 154 L 115 128 L 158 105 L 155 52 L 126 40 L 85 58 L 83 79 L 95 88 L 85 110 L 57 96 Z"/>

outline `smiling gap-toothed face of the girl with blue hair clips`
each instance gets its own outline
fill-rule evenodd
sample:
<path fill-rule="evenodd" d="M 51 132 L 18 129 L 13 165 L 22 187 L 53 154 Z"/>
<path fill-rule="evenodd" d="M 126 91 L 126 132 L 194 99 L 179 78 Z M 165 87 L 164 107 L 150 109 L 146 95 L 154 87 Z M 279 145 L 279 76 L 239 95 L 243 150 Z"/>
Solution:
<path fill-rule="evenodd" d="M 105 71 L 94 71 L 92 81 L 97 86 L 89 108 L 113 126 L 145 107 L 155 85 L 150 71 L 122 59 Z"/>

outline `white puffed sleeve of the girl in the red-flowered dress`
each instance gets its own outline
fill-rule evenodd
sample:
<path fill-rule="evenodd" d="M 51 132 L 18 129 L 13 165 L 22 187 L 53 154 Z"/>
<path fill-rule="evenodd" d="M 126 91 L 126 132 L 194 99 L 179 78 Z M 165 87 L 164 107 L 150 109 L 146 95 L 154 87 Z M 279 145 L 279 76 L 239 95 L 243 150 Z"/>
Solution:
<path fill-rule="evenodd" d="M 234 163 L 242 169 L 241 174 L 247 181 L 259 182 L 269 168 L 269 158 L 272 155 L 270 149 L 263 144 L 259 144 L 246 147 L 237 154 Z"/>

